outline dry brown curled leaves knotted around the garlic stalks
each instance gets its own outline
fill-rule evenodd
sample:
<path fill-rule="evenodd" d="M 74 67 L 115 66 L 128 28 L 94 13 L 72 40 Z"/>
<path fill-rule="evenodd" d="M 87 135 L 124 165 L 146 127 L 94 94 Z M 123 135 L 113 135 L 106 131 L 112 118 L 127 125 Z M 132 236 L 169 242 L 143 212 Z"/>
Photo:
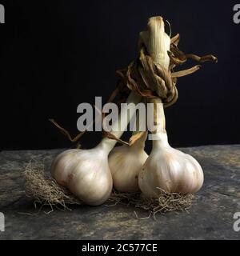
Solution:
<path fill-rule="evenodd" d="M 130 62 L 130 65 L 125 69 L 117 70 L 117 74 L 121 80 L 107 102 L 113 102 L 119 95 L 120 99 L 118 102 L 124 102 L 127 95 L 130 93 L 130 90 L 134 90 L 144 98 L 161 98 L 164 107 L 173 105 L 174 102 L 178 100 L 178 89 L 176 87 L 177 78 L 192 74 L 201 67 L 200 65 L 196 65 L 187 70 L 174 72 L 175 66 L 182 65 L 188 58 L 191 58 L 196 62 L 218 62 L 218 58 L 211 54 L 202 57 L 195 54 L 185 54 L 182 50 L 178 49 L 179 41 L 179 34 L 176 34 L 171 38 L 170 50 L 168 51 L 170 57 L 169 70 L 166 70 L 163 66 L 153 61 L 150 54 L 147 53 L 146 46 L 144 46 L 143 43 L 138 58 L 133 62 Z M 50 119 L 50 122 L 54 123 L 54 126 L 56 126 L 58 130 L 70 140 L 70 142 L 78 142 L 86 132 L 85 130 L 79 133 L 75 138 L 72 138 L 69 132 L 62 128 L 62 126 L 59 126 L 54 119 Z M 95 120 L 93 123 L 94 122 Z M 129 146 L 131 141 L 135 140 L 135 138 L 130 138 L 130 142 L 124 142 L 120 138 L 116 138 L 113 134 L 110 134 L 110 132 L 105 132 L 104 134 L 108 138 Z M 138 138 L 138 136 L 136 138 Z"/>

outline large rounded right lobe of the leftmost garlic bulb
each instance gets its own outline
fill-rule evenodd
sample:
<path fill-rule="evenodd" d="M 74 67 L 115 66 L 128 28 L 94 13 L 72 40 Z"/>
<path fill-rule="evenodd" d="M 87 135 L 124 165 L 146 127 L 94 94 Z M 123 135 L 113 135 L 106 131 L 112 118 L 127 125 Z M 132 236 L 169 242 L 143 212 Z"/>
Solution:
<path fill-rule="evenodd" d="M 98 147 L 81 150 L 78 163 L 69 175 L 70 191 L 89 205 L 101 205 L 110 197 L 113 179 L 107 157 L 108 154 Z"/>

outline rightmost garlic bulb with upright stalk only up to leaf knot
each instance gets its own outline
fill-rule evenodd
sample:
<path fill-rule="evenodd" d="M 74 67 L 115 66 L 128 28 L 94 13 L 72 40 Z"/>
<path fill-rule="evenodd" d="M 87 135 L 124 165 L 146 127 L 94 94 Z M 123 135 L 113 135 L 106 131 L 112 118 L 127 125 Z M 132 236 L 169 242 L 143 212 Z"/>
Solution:
<path fill-rule="evenodd" d="M 194 193 L 203 183 L 203 172 L 198 162 L 189 154 L 174 150 L 168 143 L 165 117 L 161 99 L 151 100 L 160 117 L 154 135 L 153 149 L 138 176 L 138 185 L 146 197 L 158 197 L 159 190 Z"/>

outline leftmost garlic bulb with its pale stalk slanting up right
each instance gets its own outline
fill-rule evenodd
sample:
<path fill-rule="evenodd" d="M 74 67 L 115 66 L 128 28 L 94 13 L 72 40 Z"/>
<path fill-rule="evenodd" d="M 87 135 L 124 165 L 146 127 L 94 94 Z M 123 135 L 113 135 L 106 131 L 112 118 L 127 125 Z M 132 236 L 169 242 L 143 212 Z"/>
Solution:
<path fill-rule="evenodd" d="M 130 115 L 133 116 L 136 104 L 141 97 L 130 93 L 126 103 L 130 104 Z M 126 127 L 127 109 L 122 110 L 119 120 Z M 130 118 L 131 118 L 130 117 Z M 112 127 L 112 134 L 120 138 L 123 131 L 118 130 L 118 122 Z M 102 142 L 91 150 L 66 150 L 59 154 L 51 166 L 51 174 L 62 186 L 66 186 L 80 200 L 89 205 L 97 206 L 110 197 L 113 179 L 108 166 L 108 154 L 114 148 L 115 140 L 103 138 Z"/>

